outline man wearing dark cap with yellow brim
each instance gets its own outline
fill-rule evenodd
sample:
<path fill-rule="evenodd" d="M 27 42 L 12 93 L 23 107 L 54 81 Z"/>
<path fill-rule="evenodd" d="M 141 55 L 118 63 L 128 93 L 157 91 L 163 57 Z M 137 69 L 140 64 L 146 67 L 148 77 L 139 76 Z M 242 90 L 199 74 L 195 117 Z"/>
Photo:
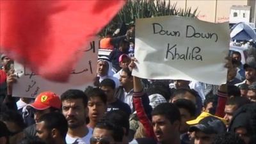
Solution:
<path fill-rule="evenodd" d="M 195 132 L 195 144 L 212 144 L 217 134 L 226 131 L 225 120 L 209 113 L 201 113 L 195 120 L 190 120 L 189 132 Z"/>

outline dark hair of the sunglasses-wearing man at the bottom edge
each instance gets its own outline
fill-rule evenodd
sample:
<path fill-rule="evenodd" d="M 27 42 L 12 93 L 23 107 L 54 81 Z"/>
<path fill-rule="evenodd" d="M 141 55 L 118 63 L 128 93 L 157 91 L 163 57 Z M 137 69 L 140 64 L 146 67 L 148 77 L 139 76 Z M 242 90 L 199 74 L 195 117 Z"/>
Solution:
<path fill-rule="evenodd" d="M 111 136 L 116 142 L 121 142 L 123 140 L 124 131 L 123 128 L 120 127 L 120 125 L 116 125 L 112 122 L 109 122 L 108 120 L 100 120 L 94 127 L 94 129 L 107 129 L 111 131 Z"/>

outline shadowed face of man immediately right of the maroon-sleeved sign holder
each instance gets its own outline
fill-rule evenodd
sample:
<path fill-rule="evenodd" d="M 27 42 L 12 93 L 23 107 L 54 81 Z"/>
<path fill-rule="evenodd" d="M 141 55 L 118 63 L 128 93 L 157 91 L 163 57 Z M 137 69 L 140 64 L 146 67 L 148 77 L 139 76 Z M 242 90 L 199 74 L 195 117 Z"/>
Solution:
<path fill-rule="evenodd" d="M 189 125 L 186 124 L 187 121 L 193 120 L 193 117 L 190 115 L 189 111 L 184 108 L 179 108 L 181 122 L 180 122 L 180 133 L 188 132 Z"/>

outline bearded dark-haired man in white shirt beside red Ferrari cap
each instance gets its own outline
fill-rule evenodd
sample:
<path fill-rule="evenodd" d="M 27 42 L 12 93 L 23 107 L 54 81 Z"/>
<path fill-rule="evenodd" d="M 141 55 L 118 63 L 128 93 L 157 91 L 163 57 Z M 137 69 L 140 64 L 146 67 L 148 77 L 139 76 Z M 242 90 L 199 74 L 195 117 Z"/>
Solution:
<path fill-rule="evenodd" d="M 62 113 L 68 122 L 67 143 L 90 143 L 92 128 L 86 126 L 88 98 L 81 90 L 67 90 L 61 95 Z"/>

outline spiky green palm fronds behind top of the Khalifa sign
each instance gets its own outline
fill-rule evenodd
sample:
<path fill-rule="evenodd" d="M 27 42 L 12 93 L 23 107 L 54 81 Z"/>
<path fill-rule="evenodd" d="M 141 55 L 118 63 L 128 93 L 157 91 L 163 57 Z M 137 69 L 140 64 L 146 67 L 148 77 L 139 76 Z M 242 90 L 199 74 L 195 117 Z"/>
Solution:
<path fill-rule="evenodd" d="M 164 15 L 180 15 L 183 17 L 195 17 L 196 10 L 191 13 L 191 8 L 177 9 L 176 4 L 171 5 L 170 0 L 128 0 L 118 15 L 99 33 L 106 36 L 107 31 L 115 31 L 118 24 L 134 24 L 135 19 L 158 17 Z"/>

